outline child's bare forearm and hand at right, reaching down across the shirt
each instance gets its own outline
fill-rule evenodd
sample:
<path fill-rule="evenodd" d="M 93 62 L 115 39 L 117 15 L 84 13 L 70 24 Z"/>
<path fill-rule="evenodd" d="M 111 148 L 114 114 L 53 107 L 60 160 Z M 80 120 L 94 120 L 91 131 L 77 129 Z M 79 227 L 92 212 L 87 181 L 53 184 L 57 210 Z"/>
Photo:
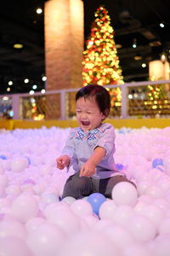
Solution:
<path fill-rule="evenodd" d="M 105 157 L 105 148 L 97 147 L 94 149 L 94 154 L 88 159 L 88 161 L 82 165 L 80 170 L 80 177 L 91 177 L 95 173 L 95 167 Z"/>

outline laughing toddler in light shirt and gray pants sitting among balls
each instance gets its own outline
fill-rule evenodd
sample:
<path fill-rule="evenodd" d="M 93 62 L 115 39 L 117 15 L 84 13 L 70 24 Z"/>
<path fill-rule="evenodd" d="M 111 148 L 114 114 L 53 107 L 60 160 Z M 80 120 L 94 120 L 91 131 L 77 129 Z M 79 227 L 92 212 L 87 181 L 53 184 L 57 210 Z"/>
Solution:
<path fill-rule="evenodd" d="M 111 97 L 105 87 L 88 84 L 77 91 L 77 123 L 72 129 L 57 158 L 57 167 L 73 167 L 75 173 L 65 183 L 62 198 L 81 199 L 98 192 L 111 198 L 116 183 L 129 182 L 116 171 L 115 131 L 111 124 L 103 123 L 111 108 Z"/>

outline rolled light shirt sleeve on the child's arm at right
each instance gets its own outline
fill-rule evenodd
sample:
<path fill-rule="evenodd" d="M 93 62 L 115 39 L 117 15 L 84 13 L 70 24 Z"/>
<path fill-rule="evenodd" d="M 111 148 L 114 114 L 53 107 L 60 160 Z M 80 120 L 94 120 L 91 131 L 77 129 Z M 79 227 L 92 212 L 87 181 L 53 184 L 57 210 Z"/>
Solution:
<path fill-rule="evenodd" d="M 95 146 L 105 148 L 106 154 L 114 153 L 115 152 L 115 129 L 112 125 L 107 124 L 105 130 L 102 132 L 101 137 Z"/>

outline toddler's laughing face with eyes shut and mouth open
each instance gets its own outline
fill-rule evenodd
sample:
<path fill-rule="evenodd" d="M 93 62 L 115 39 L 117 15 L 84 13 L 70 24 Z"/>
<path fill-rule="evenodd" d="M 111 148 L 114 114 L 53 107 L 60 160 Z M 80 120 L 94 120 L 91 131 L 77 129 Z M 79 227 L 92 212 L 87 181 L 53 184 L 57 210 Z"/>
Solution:
<path fill-rule="evenodd" d="M 77 100 L 77 122 L 83 131 L 94 130 L 105 119 L 105 115 L 100 112 L 94 97 Z"/>

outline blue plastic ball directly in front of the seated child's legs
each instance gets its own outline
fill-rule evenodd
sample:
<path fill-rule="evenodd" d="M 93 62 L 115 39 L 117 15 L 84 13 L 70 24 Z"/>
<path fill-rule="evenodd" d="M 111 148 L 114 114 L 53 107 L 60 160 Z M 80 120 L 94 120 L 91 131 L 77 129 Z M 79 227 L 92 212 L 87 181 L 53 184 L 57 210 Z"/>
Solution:
<path fill-rule="evenodd" d="M 106 201 L 106 198 L 100 193 L 93 193 L 88 195 L 87 201 L 91 204 L 93 212 L 99 215 L 99 207 Z"/>

